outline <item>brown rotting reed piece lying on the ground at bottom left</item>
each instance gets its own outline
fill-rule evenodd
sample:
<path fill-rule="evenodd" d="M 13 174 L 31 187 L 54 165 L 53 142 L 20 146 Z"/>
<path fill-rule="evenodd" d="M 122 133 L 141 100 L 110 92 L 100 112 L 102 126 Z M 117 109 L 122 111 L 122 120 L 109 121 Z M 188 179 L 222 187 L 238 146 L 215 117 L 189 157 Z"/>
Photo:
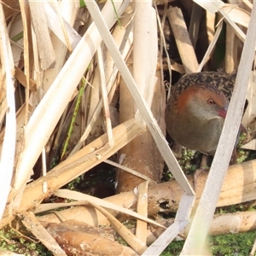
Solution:
<path fill-rule="evenodd" d="M 94 228 L 82 221 L 73 220 L 61 224 L 44 223 L 44 226 L 61 247 L 65 247 L 66 252 L 74 252 L 75 255 L 93 253 L 93 255 L 138 256 L 131 247 L 113 241 L 113 230 L 108 227 Z"/>

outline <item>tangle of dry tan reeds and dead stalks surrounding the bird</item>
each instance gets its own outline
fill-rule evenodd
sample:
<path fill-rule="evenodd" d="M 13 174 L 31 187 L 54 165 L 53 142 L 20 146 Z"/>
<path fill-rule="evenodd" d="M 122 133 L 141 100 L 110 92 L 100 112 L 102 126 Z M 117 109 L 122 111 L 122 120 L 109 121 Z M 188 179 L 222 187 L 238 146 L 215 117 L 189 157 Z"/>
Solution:
<path fill-rule="evenodd" d="M 54 255 L 159 255 L 177 236 L 190 255 L 207 251 L 208 231 L 255 230 L 254 212 L 213 218 L 255 200 L 255 160 L 228 167 L 246 98 L 243 148 L 255 150 L 255 4 L 85 4 L 0 3 L 1 229 Z M 166 96 L 177 73 L 217 68 L 238 69 L 236 87 L 211 171 L 194 188 L 166 142 Z M 116 195 L 63 189 L 104 161 L 119 168 Z M 175 179 L 160 183 L 165 163 Z M 136 227 L 122 224 L 130 218 Z"/>

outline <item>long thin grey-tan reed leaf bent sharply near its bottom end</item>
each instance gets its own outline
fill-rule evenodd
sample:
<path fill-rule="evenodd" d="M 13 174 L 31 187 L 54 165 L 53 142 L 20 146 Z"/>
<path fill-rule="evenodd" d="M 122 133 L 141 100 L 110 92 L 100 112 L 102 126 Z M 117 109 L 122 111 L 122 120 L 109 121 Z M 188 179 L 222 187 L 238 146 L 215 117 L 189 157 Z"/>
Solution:
<path fill-rule="evenodd" d="M 104 20 L 102 19 L 102 15 L 99 12 L 96 3 L 87 2 L 87 8 L 90 11 L 90 14 L 93 16 L 96 26 L 98 27 L 99 31 L 102 34 L 102 38 L 104 43 L 107 45 L 108 50 L 113 56 L 113 59 L 119 67 L 119 72 L 121 73 L 125 83 L 127 84 L 131 95 L 134 98 L 134 101 L 137 104 L 137 108 L 140 111 L 140 115 L 138 120 L 142 121 L 141 115 L 143 115 L 143 119 L 148 125 L 148 129 L 151 132 L 152 136 L 154 137 L 154 141 L 157 144 L 160 153 L 162 154 L 163 158 L 166 160 L 166 164 L 168 167 L 172 167 L 173 176 L 176 177 L 178 183 L 181 184 L 184 194 L 181 200 L 180 210 L 177 212 L 177 222 L 172 224 L 168 230 L 165 232 L 165 236 L 168 236 L 167 241 L 172 241 L 172 239 L 177 236 L 177 232 L 180 228 L 182 228 L 185 224 L 188 223 L 189 213 L 193 203 L 195 201 L 195 194 L 193 189 L 190 187 L 186 177 L 183 175 L 180 167 L 177 164 L 177 160 L 175 159 L 174 155 L 172 154 L 171 149 L 169 148 L 168 144 L 166 143 L 166 139 L 163 136 L 162 132 L 160 131 L 159 126 L 157 125 L 152 113 L 148 109 L 147 103 L 144 101 L 143 97 L 140 95 L 139 90 L 137 89 L 137 84 L 131 77 L 131 73 L 127 66 L 125 65 L 125 61 L 120 57 L 119 50 L 117 49 L 116 45 L 113 42 L 113 38 L 111 37 L 108 28 L 106 27 Z M 159 246 L 159 241 L 156 242 L 157 246 Z M 153 245 L 154 246 L 154 245 Z M 166 243 L 165 246 L 166 247 Z M 159 247 L 159 250 L 163 249 L 163 246 Z M 146 250 L 144 253 L 148 253 Z"/>

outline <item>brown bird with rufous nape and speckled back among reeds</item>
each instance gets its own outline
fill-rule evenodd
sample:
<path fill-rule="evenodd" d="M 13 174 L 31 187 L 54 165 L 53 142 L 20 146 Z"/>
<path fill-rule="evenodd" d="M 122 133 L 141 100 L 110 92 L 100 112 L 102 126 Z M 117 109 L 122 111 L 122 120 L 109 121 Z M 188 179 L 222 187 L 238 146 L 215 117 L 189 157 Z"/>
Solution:
<path fill-rule="evenodd" d="M 224 72 L 190 73 L 179 79 L 166 104 L 166 130 L 172 139 L 214 155 L 235 80 L 236 73 Z"/>

